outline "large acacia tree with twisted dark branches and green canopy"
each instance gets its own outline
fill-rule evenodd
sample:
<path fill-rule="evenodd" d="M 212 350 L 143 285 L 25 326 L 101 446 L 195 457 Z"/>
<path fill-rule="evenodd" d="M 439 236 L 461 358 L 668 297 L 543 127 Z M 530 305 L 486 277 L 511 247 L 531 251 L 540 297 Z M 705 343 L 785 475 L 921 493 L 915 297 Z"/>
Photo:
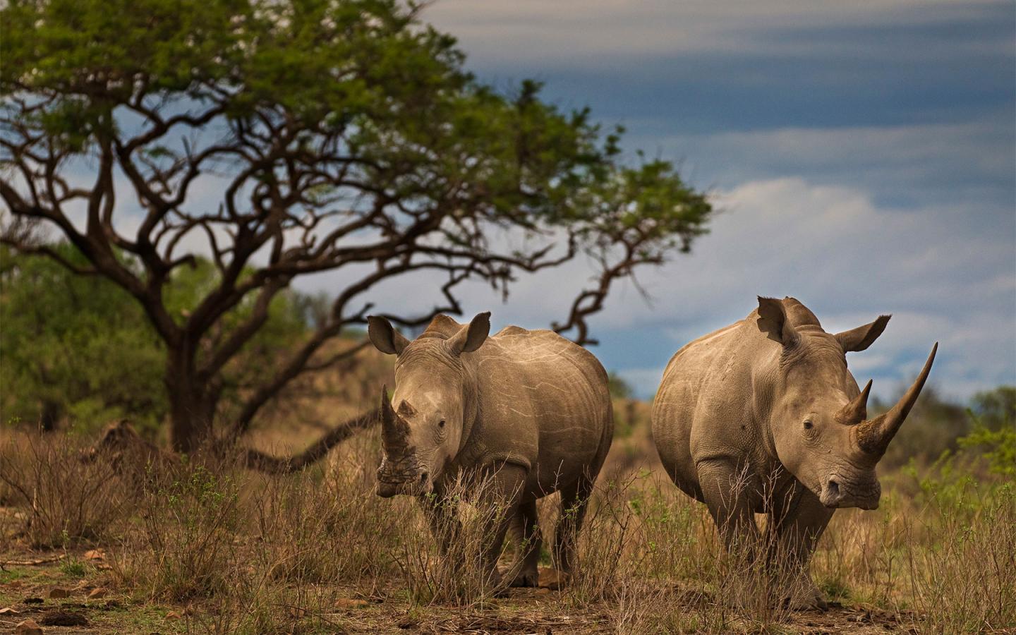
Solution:
<path fill-rule="evenodd" d="M 586 317 L 613 281 L 705 231 L 710 205 L 673 166 L 623 165 L 616 132 L 548 104 L 534 82 L 478 81 L 420 10 L 397 0 L 9 0 L 2 10 L 2 240 L 140 303 L 166 342 L 176 449 L 212 433 L 224 367 L 298 275 L 341 270 L 343 285 L 328 319 L 250 390 L 228 422 L 234 436 L 288 382 L 337 361 L 323 344 L 365 321 L 386 279 L 440 272 L 430 310 L 386 315 L 422 325 L 460 312 L 463 280 L 507 293 L 520 273 L 587 254 L 595 283 L 575 290 L 554 327 L 589 343 Z M 87 264 L 62 258 L 54 235 Z M 171 312 L 168 280 L 199 256 L 214 283 Z M 224 326 L 241 305 L 245 319 Z"/>

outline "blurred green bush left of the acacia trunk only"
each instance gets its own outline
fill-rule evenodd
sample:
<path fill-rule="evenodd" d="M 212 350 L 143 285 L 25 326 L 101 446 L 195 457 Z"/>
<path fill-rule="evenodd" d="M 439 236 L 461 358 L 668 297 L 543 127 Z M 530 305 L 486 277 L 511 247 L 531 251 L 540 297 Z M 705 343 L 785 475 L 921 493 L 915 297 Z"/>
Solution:
<path fill-rule="evenodd" d="M 84 258 L 55 247 L 70 262 Z M 98 276 L 0 248 L 0 412 L 4 422 L 67 418 L 83 428 L 166 412 L 163 348 L 141 307 Z"/>

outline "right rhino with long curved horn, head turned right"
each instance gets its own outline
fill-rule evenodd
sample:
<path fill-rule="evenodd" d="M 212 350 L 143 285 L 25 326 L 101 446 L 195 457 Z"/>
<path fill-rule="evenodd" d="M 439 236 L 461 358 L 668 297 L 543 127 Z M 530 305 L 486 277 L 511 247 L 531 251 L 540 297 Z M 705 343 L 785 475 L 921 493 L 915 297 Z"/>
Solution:
<path fill-rule="evenodd" d="M 859 390 L 844 354 L 871 345 L 889 316 L 832 334 L 793 298 L 758 301 L 744 320 L 671 359 L 652 435 L 674 483 L 708 506 L 728 547 L 758 544 L 753 513 L 769 515 L 777 538 L 769 545 L 801 576 L 795 606 L 824 608 L 808 559 L 837 507 L 878 507 L 875 465 L 917 399 L 938 343 L 899 402 L 869 420 L 872 382 Z"/>

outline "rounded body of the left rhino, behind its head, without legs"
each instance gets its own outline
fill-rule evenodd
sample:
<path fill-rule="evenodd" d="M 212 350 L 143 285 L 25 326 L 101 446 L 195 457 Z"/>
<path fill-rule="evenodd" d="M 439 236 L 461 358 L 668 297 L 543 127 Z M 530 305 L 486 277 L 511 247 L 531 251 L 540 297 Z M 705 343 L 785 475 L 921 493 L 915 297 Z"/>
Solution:
<path fill-rule="evenodd" d="M 527 488 L 550 493 L 599 468 L 614 432 L 607 372 L 585 348 L 549 330 L 508 327 L 470 356 L 478 422 L 472 461 L 530 468 Z"/>

